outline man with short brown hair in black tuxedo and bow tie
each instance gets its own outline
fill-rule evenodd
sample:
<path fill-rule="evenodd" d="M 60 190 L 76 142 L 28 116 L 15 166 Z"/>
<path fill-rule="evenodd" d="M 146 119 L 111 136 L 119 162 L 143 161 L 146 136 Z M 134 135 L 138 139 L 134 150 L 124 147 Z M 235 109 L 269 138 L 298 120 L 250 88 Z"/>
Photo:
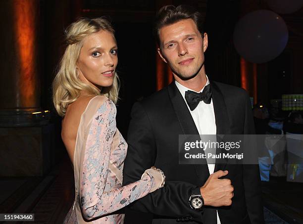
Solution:
<path fill-rule="evenodd" d="M 184 165 L 178 157 L 179 134 L 254 134 L 247 92 L 206 76 L 207 34 L 199 12 L 162 7 L 155 34 L 175 80 L 134 104 L 123 184 L 140 179 L 151 166 L 164 172 L 166 182 L 130 208 L 152 213 L 153 224 L 263 223 L 258 165 Z"/>

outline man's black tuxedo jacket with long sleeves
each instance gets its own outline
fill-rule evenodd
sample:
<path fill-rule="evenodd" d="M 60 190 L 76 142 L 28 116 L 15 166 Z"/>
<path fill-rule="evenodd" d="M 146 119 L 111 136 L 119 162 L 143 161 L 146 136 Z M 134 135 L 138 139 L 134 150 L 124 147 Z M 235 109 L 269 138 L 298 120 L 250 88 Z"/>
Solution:
<path fill-rule="evenodd" d="M 245 90 L 210 82 L 217 134 L 254 134 L 250 98 Z M 234 197 L 231 206 L 204 207 L 202 212 L 189 206 L 194 189 L 209 177 L 207 165 L 180 165 L 179 134 L 199 134 L 180 91 L 172 82 L 149 98 L 136 102 L 128 131 L 128 152 L 124 163 L 123 184 L 141 178 L 155 166 L 165 176 L 165 186 L 130 205 L 131 209 L 152 213 L 152 223 L 261 224 L 263 207 L 258 165 L 216 164 L 214 172 L 228 170 Z"/>

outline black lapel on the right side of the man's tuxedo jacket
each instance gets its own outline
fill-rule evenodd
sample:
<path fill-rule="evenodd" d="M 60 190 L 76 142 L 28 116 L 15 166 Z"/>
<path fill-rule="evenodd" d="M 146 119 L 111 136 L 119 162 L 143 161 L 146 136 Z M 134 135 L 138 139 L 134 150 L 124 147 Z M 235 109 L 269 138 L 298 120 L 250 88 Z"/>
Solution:
<path fill-rule="evenodd" d="M 212 91 L 212 103 L 216 120 L 217 134 L 231 134 L 230 132 L 230 123 L 227 115 L 226 104 L 224 101 L 224 96 L 219 90 L 215 82 L 210 82 L 210 87 Z M 223 149 L 224 150 L 224 149 Z M 219 150 L 216 150 L 218 153 Z M 216 160 L 217 162 L 218 160 Z M 224 170 L 226 167 L 228 159 L 220 159 L 219 163 L 215 164 L 214 172 L 218 170 Z"/>

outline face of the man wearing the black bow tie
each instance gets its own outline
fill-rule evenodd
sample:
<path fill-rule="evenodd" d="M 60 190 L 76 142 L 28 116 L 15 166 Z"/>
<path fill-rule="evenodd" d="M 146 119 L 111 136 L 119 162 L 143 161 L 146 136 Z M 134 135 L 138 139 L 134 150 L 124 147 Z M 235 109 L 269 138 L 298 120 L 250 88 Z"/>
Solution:
<path fill-rule="evenodd" d="M 195 77 L 204 64 L 207 34 L 204 40 L 195 22 L 184 19 L 159 30 L 158 53 L 169 64 L 173 74 L 182 80 Z"/>

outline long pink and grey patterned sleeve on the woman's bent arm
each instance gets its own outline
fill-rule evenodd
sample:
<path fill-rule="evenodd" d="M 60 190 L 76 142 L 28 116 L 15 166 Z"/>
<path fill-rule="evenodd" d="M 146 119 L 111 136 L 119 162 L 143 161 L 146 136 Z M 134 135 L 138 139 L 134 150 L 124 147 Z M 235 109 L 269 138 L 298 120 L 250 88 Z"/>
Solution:
<path fill-rule="evenodd" d="M 117 211 L 152 191 L 153 177 L 104 191 L 113 136 L 116 132 L 116 107 L 105 100 L 92 118 L 82 167 L 80 168 L 80 207 L 84 218 L 90 220 Z"/>

